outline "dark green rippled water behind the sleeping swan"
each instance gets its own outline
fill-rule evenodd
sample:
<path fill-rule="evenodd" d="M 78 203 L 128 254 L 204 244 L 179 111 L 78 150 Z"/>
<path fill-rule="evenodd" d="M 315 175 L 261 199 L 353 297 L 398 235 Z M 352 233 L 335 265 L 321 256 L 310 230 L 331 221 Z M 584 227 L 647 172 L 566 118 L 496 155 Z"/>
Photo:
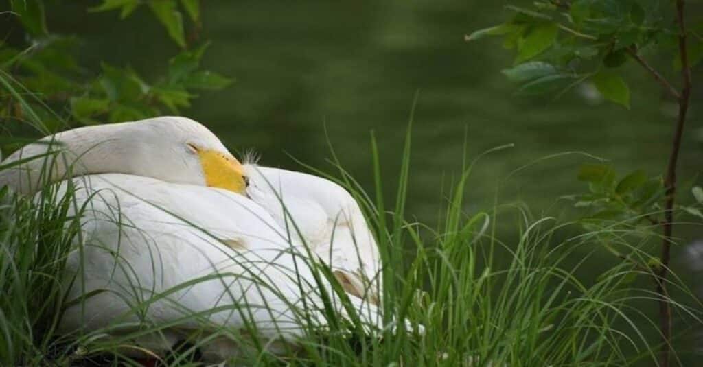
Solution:
<path fill-rule="evenodd" d="M 413 98 L 418 94 L 411 157 L 408 213 L 431 225 L 442 193 L 460 173 L 464 150 L 473 159 L 504 144 L 514 148 L 486 155 L 468 186 L 467 212 L 500 202 L 526 202 L 536 215 L 574 218 L 557 199 L 586 187 L 576 181 L 585 151 L 611 160 L 621 172 L 662 172 L 669 152 L 676 105 L 650 75 L 624 67 L 632 110 L 587 98 L 576 90 L 558 101 L 514 96 L 501 74 L 512 54 L 500 41 L 466 43 L 464 34 L 505 20 L 503 1 L 202 1 L 202 39 L 212 45 L 204 64 L 236 78 L 219 92 L 202 93 L 183 111 L 210 127 L 230 148 L 249 148 L 262 164 L 299 169 L 289 157 L 332 170 L 328 141 L 349 172 L 372 190 L 370 131 L 382 153 L 388 198 L 394 198 L 402 143 Z M 513 1 L 529 3 L 529 1 Z M 94 1 L 53 6 L 49 27 L 79 34 L 81 58 L 98 70 L 105 60 L 131 65 L 149 79 L 178 50 L 145 9 L 119 21 L 117 13 L 87 14 Z M 692 5 L 692 11 L 702 14 Z M 700 7 L 700 5 L 698 5 Z M 696 18 L 695 15 L 692 18 Z M 652 58 L 672 80 L 671 60 Z M 703 81 L 700 69 L 694 75 Z M 681 181 L 701 171 L 703 84 L 695 89 L 681 151 Z M 326 135 L 325 135 L 326 129 Z M 698 179 L 700 184 L 701 180 Z M 443 191 L 444 190 L 444 191 Z M 682 192 L 690 201 L 690 193 Z M 501 236 L 515 235 L 517 219 L 505 217 Z M 681 243 L 703 238 L 695 228 L 677 228 Z M 693 281 L 675 251 L 674 269 Z M 614 263 L 608 255 L 585 268 L 592 276 Z M 654 313 L 651 303 L 645 306 Z"/>

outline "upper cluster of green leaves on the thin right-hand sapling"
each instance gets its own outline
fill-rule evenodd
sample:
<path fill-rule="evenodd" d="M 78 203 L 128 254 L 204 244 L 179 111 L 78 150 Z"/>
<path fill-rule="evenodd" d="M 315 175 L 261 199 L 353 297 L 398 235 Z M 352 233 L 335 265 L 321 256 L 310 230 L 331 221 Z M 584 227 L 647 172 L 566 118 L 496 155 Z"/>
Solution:
<path fill-rule="evenodd" d="M 503 46 L 516 52 L 515 65 L 503 70 L 520 84 L 520 94 L 560 96 L 591 81 L 602 96 L 630 107 L 630 89 L 619 67 L 636 54 L 671 54 L 672 67 L 681 68 L 671 1 L 551 0 L 534 8 L 506 6 L 514 15 L 501 25 L 478 30 L 467 41 L 503 37 Z M 703 58 L 700 30 L 690 27 L 690 64 Z"/>

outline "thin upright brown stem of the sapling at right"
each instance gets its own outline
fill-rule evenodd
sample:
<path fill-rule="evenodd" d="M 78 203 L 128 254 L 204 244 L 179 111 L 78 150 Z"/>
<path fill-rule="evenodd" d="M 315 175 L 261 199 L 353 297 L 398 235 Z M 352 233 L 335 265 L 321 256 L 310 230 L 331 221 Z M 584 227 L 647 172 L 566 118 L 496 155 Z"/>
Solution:
<path fill-rule="evenodd" d="M 659 366 L 669 367 L 669 354 L 671 354 L 671 304 L 668 301 L 668 293 L 666 291 L 666 274 L 669 272 L 669 260 L 671 259 L 671 243 L 673 237 L 673 205 L 676 195 L 676 162 L 678 161 L 678 151 L 681 148 L 681 136 L 683 135 L 683 125 L 686 121 L 686 112 L 688 112 L 688 101 L 691 94 L 691 72 L 688 65 L 688 50 L 686 48 L 686 26 L 683 18 L 684 0 L 676 0 L 676 21 L 678 22 L 678 51 L 681 56 L 681 77 L 683 79 L 683 88 L 678 98 L 678 119 L 676 128 L 673 133 L 673 141 L 671 143 L 671 155 L 669 155 L 669 163 L 666 165 L 666 177 L 664 178 L 664 186 L 666 186 L 666 198 L 664 200 L 664 224 L 662 242 L 662 266 L 657 274 L 657 294 L 659 300 L 659 318 L 662 331 L 663 345 L 659 359 Z"/>

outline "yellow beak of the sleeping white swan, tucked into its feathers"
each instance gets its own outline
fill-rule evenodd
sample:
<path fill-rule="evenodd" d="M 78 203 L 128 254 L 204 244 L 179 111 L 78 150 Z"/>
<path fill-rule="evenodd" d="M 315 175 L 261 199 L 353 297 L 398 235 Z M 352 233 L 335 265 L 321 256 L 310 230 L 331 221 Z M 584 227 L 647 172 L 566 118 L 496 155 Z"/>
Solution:
<path fill-rule="evenodd" d="M 217 150 L 198 150 L 205 184 L 246 195 L 244 167 L 233 156 Z"/>

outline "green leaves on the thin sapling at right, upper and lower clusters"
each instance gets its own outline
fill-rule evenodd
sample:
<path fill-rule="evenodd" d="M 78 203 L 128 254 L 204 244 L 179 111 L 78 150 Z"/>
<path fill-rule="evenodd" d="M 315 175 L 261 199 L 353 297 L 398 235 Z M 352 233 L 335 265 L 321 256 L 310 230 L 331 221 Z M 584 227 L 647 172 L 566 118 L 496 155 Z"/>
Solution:
<path fill-rule="evenodd" d="M 558 98 L 581 83 L 591 82 L 605 99 L 630 108 L 630 89 L 621 66 L 633 60 L 650 72 L 670 97 L 678 101 L 683 94 L 644 58 L 664 55 L 673 60 L 673 70 L 681 70 L 680 30 L 672 1 L 549 0 L 535 1 L 532 8 L 505 8 L 513 13 L 508 22 L 468 34 L 465 40 L 503 37 L 505 49 L 516 53 L 514 65 L 503 70 L 503 75 L 519 85 L 518 94 Z M 702 59 L 702 29 L 703 22 L 687 28 L 689 67 Z M 653 234 L 666 221 L 667 184 L 662 176 L 650 177 L 641 170 L 618 176 L 610 165 L 589 164 L 581 167 L 578 178 L 588 183 L 589 192 L 567 198 L 574 200 L 576 207 L 588 208 L 584 225 L 590 229 L 627 226 Z M 692 192 L 697 198 L 701 196 L 700 188 Z M 703 219 L 695 205 L 674 209 Z M 602 243 L 607 247 L 607 240 Z M 612 248 L 608 250 L 621 256 Z"/>

